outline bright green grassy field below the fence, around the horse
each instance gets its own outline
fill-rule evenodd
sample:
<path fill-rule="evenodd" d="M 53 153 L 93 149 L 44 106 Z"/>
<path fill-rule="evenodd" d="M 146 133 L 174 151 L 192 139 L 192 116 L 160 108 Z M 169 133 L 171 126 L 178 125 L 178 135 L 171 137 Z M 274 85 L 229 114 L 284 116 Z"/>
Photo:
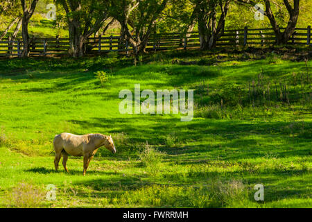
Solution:
<path fill-rule="evenodd" d="M 275 54 L 195 51 L 137 66 L 114 53 L 0 60 L 0 207 L 312 207 L 309 70 Z M 106 71 L 103 85 L 96 71 Z M 120 90 L 137 83 L 194 89 L 193 120 L 120 114 Z M 81 157 L 55 172 L 62 132 L 111 134 L 117 153 L 102 148 L 85 177 Z"/>

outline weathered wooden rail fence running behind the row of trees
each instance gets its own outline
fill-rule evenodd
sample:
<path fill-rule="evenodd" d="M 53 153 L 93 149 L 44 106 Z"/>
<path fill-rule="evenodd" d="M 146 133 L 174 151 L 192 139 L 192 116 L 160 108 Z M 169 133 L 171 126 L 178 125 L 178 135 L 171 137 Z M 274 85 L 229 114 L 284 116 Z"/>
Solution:
<path fill-rule="evenodd" d="M 283 30 L 285 28 L 281 28 Z M 275 44 L 275 33 L 272 28 L 243 28 L 227 30 L 216 42 L 216 46 L 272 46 Z M 295 28 L 288 44 L 311 46 L 311 26 Z M 196 49 L 200 47 L 197 32 L 162 33 L 151 35 L 146 47 L 147 51 L 168 49 Z M 110 51 L 131 52 L 132 46 L 119 36 L 89 37 L 87 40 L 89 53 L 107 53 Z M 0 56 L 20 56 L 23 50 L 21 39 L 11 41 L 3 39 L 0 42 Z M 69 38 L 31 38 L 31 56 L 46 56 L 66 54 L 69 50 Z"/>

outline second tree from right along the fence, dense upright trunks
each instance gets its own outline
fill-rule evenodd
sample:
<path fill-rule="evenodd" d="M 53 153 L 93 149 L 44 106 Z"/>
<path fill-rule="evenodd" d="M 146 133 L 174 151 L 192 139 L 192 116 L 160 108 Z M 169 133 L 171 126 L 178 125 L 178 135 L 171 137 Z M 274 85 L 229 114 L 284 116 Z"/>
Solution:
<path fill-rule="evenodd" d="M 224 33 L 225 17 L 229 9 L 229 0 L 192 0 L 195 4 L 193 16 L 198 22 L 200 49 L 212 49 Z M 217 17 L 217 10 L 220 15 Z"/>

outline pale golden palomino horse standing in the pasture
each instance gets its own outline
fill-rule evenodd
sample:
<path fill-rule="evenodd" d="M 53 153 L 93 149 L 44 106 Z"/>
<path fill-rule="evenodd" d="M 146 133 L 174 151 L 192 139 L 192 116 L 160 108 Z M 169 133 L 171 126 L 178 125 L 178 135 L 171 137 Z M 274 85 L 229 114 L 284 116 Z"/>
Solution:
<path fill-rule="evenodd" d="M 86 134 L 80 136 L 71 133 L 61 133 L 55 135 L 53 146 L 55 151 L 55 171 L 58 171 L 58 162 L 60 162 L 61 155 L 63 156 L 63 167 L 67 172 L 69 172 L 66 167 L 68 155 L 76 157 L 83 156 L 83 176 L 85 176 L 89 162 L 93 159 L 98 148 L 105 146 L 107 150 L 116 153 L 112 137 L 103 134 Z"/>

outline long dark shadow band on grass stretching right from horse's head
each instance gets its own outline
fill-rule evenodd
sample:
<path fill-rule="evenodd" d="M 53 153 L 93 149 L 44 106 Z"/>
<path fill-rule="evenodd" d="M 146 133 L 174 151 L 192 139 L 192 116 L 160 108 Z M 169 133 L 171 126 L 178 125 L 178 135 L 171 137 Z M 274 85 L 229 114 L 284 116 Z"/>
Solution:
<path fill-rule="evenodd" d="M 137 123 L 142 123 L 142 119 L 144 125 L 138 126 Z M 161 151 L 170 155 L 182 155 L 180 158 L 185 162 L 205 158 L 243 160 L 264 157 L 269 151 L 278 154 L 278 157 L 304 157 L 311 152 L 309 149 L 311 137 L 308 134 L 290 137 L 284 130 L 290 124 L 286 121 L 194 119 L 182 123 L 178 118 L 143 115 L 69 121 L 80 125 L 81 128 L 101 129 L 98 133 L 112 133 L 113 137 L 114 133 L 125 133 L 129 139 L 123 146 L 143 144 L 146 141 L 155 146 L 162 144 L 159 147 Z M 309 131 L 311 128 L 312 124 L 306 123 L 305 130 Z M 177 141 L 183 142 L 183 145 L 177 142 L 173 147 L 166 146 L 164 138 L 171 133 L 175 133 Z M 197 144 L 193 144 L 193 141 Z M 272 149 L 272 146 L 275 148 Z"/>

